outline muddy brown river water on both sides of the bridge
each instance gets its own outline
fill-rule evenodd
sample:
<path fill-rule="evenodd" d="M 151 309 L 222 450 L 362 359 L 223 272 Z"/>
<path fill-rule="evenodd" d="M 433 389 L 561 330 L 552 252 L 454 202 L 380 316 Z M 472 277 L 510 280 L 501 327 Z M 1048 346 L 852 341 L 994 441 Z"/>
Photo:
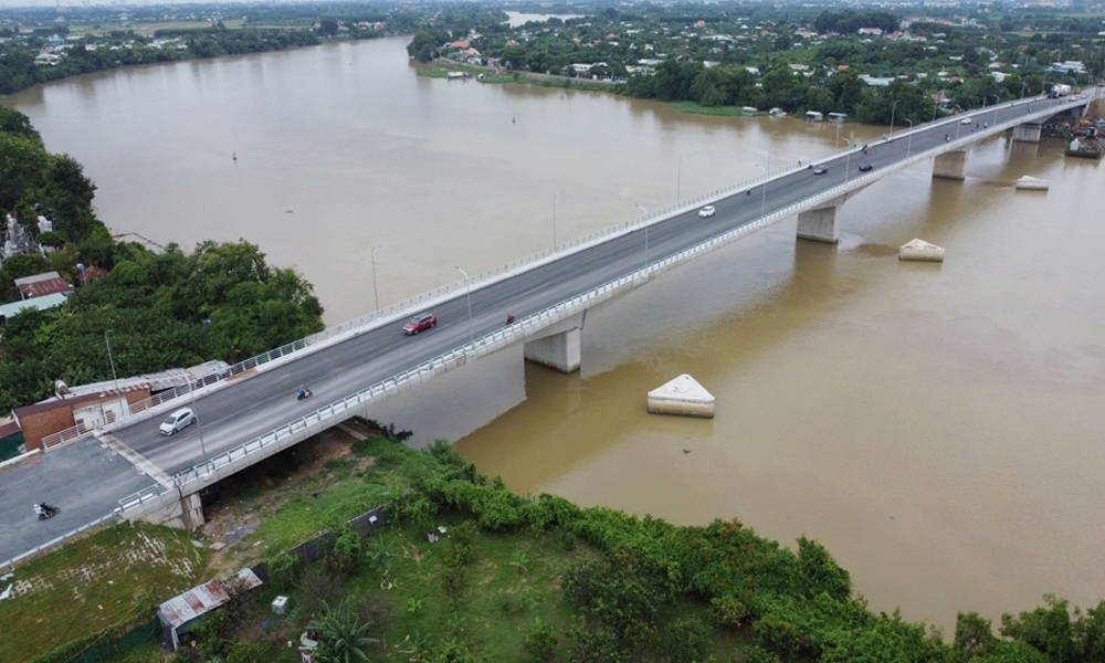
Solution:
<path fill-rule="evenodd" d="M 685 116 L 418 77 L 406 40 L 130 69 L 9 97 L 119 233 L 245 238 L 328 323 L 885 128 Z M 839 130 L 839 134 L 838 134 Z M 839 245 L 758 232 L 589 313 L 583 367 L 504 351 L 376 413 L 519 492 L 823 541 L 876 610 L 944 625 L 1105 597 L 1102 166 L 985 141 L 842 211 Z M 233 158 L 236 157 L 236 160 Z M 1023 175 L 1051 190 L 1015 192 Z M 922 238 L 943 265 L 899 263 Z M 687 372 L 715 419 L 650 417 Z"/>

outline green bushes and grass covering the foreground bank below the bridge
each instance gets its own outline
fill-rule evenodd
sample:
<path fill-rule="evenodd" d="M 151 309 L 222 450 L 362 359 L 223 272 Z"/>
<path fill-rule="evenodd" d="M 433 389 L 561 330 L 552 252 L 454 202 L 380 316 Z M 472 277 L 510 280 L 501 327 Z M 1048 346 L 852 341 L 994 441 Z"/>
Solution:
<path fill-rule="evenodd" d="M 286 467 L 276 471 L 287 487 L 259 498 L 280 502 L 292 491 L 303 499 L 276 508 L 235 545 L 241 555 L 267 558 L 269 582 L 201 620 L 196 648 L 182 660 L 293 663 L 298 653 L 287 643 L 297 645 L 304 633 L 328 652 L 320 661 L 1105 660 L 1105 601 L 1082 612 L 1045 597 L 1040 608 L 1004 615 L 998 634 L 978 614 L 960 614 L 945 642 L 924 623 L 872 613 L 853 596 L 848 571 L 804 537 L 787 549 L 737 520 L 676 527 L 551 495 L 519 496 L 475 474 L 443 442 L 419 452 L 397 442 L 402 434 L 382 432 L 390 438 L 357 442 L 351 456 L 316 463 L 322 472 L 294 483 L 284 478 Z M 259 473 L 254 481 L 272 478 Z M 392 517 L 360 536 L 343 522 L 366 494 L 382 495 Z M 315 562 L 276 547 L 296 533 L 307 539 L 320 532 L 332 534 L 330 545 Z M 66 636 L 77 642 L 65 651 L 80 651 L 105 629 L 117 633 L 118 624 L 147 620 L 198 576 L 225 577 L 242 566 L 241 558 L 225 559 L 199 571 L 202 551 L 188 538 L 123 525 L 20 567 L 18 577 L 41 589 L 0 603 L 0 620 L 15 623 L 9 632 L 20 635 L 0 642 L 0 656 L 25 660 Z M 148 556 L 134 550 L 160 545 L 168 564 L 146 569 L 140 560 Z M 105 551 L 112 554 L 99 561 Z M 88 559 L 97 560 L 93 573 Z M 40 578 L 69 583 L 46 587 Z M 87 599 L 66 606 L 74 592 Z M 283 619 L 270 609 L 277 593 L 291 597 Z M 93 611 L 103 619 L 87 622 L 90 603 L 104 606 L 105 614 Z M 24 622 L 35 628 L 18 628 Z M 38 642 L 42 624 L 57 633 L 49 643 Z M 161 660 L 150 648 L 117 659 Z"/>

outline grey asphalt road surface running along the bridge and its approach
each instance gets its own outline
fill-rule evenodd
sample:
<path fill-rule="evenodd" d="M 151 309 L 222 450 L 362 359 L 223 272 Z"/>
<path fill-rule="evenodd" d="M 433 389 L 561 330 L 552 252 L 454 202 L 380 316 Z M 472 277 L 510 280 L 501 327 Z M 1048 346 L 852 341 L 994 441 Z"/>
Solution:
<path fill-rule="evenodd" d="M 1050 105 L 1038 98 L 1011 107 L 976 110 L 970 114 L 979 124 L 974 133 L 981 139 L 989 133 L 981 128 L 982 123 L 992 127 L 1024 117 L 1030 104 L 1031 112 Z M 869 144 L 866 154 L 861 151 L 862 145 L 856 145 L 846 155 L 820 161 L 829 167 L 824 175 L 802 169 L 713 202 L 717 210 L 713 217 L 699 218 L 697 210 L 692 210 L 656 222 L 646 231 L 649 261 L 662 260 L 754 222 L 761 212 L 771 213 L 844 183 L 845 179 L 866 175 L 859 170 L 863 162 L 870 164 L 872 171 L 877 173 L 909 155 L 945 145 L 946 134 L 955 139 L 957 134 L 959 137 L 971 134 L 972 128 L 974 123 L 969 126 L 945 123 L 912 137 L 895 133 Z M 502 327 L 508 312 L 522 318 L 642 267 L 645 236 L 644 229 L 636 230 L 473 290 L 471 327 L 474 335 L 480 337 Z M 161 418 L 154 418 L 120 429 L 115 436 L 167 474 L 180 472 L 204 457 L 236 448 L 469 340 L 469 304 L 463 291 L 435 306 L 432 313 L 438 316 L 436 328 L 406 336 L 401 323 L 389 325 L 203 396 L 194 404 L 199 425 L 191 425 L 176 435 L 159 434 Z M 299 385 L 307 385 L 314 396 L 297 400 Z M 189 403 L 181 407 L 186 404 Z M 0 560 L 109 513 L 118 499 L 151 483 L 95 439 L 52 452 L 40 464 L 0 474 L 0 523 L 3 524 L 0 527 Z M 31 507 L 41 499 L 56 504 L 62 513 L 50 520 L 35 520 Z"/>

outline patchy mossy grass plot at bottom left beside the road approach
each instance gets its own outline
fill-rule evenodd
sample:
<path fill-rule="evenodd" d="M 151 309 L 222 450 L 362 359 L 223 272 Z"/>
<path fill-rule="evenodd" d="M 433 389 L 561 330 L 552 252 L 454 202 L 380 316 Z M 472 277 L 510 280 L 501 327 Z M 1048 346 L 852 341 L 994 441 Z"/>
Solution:
<path fill-rule="evenodd" d="M 179 529 L 125 523 L 18 567 L 8 581 L 14 596 L 0 601 L 0 661 L 30 661 L 70 641 L 66 650 L 76 653 L 101 634 L 148 622 L 161 601 L 202 573 L 206 552 L 190 539 Z"/>

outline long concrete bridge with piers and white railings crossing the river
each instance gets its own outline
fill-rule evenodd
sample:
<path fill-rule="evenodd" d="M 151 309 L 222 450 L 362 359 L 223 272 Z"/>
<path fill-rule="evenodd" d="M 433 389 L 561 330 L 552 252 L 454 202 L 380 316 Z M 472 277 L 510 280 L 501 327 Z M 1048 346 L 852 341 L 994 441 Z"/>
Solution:
<path fill-rule="evenodd" d="M 63 481 L 41 473 L 40 481 L 59 482 L 56 490 L 45 492 L 61 503 L 64 515 L 65 495 L 90 492 L 82 492 L 78 484 L 97 484 L 96 498 L 103 499 L 104 483 L 117 481 L 114 485 L 120 488 L 135 484 L 133 471 L 119 474 L 120 467 L 134 467 L 155 484 L 129 495 L 133 487 L 119 490 L 117 504 L 104 505 L 105 512 L 115 507 L 126 518 L 198 526 L 203 518 L 201 490 L 346 419 L 364 415 L 382 399 L 517 344 L 524 344 L 528 360 L 562 371 L 578 370 L 580 337 L 587 312 L 594 306 L 791 217 L 798 217 L 799 238 L 835 242 L 841 208 L 882 177 L 933 160 L 934 177 L 961 180 L 974 145 L 1010 129 L 1015 140 L 1038 141 L 1042 123 L 1062 113 L 1084 113 L 1088 103 L 1085 97 L 1024 99 L 888 133 L 865 151 L 864 146 L 851 146 L 802 161 L 450 284 L 235 366 L 211 383 L 104 425 L 94 438 L 85 436 L 45 459 L 94 455 L 92 449 L 106 446 L 115 452 L 108 455 L 129 461 L 104 464 L 114 467 L 109 471 L 117 475 L 114 478 L 104 470 L 97 476 L 67 475 Z M 861 171 L 861 164 L 871 169 Z M 817 175 L 817 166 L 828 171 Z M 697 212 L 704 204 L 714 206 L 716 213 L 701 218 Z M 436 314 L 439 325 L 403 336 L 402 323 L 422 312 Z M 504 325 L 507 312 L 516 316 L 512 325 Z M 294 398 L 301 383 L 311 385 L 312 399 Z M 160 435 L 161 417 L 185 406 L 196 409 L 200 425 L 172 438 Z M 6 480 L 7 475 L 0 476 L 0 496 Z M 3 506 L 4 502 L 0 499 L 0 513 L 6 523 L 13 522 L 9 515 L 19 520 L 33 517 L 30 502 L 20 503 L 12 514 L 3 512 L 12 508 Z M 65 530 L 62 524 L 54 527 L 54 534 Z M 42 538 L 45 532 L 33 534 Z M 41 543 L 34 536 L 22 549 Z M 0 534 L 0 558 L 10 550 L 21 551 Z"/>

